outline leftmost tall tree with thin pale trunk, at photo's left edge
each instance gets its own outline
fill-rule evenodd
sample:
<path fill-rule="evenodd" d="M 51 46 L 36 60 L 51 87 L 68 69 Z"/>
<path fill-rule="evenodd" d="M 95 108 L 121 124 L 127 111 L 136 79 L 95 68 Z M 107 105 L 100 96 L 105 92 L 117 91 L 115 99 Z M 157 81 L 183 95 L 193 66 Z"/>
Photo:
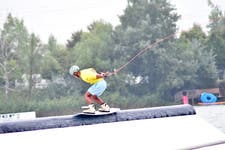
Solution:
<path fill-rule="evenodd" d="M 3 30 L 0 30 L 0 74 L 4 80 L 5 98 L 8 98 L 10 79 L 17 74 L 20 54 L 27 48 L 28 32 L 23 20 L 8 15 Z"/>

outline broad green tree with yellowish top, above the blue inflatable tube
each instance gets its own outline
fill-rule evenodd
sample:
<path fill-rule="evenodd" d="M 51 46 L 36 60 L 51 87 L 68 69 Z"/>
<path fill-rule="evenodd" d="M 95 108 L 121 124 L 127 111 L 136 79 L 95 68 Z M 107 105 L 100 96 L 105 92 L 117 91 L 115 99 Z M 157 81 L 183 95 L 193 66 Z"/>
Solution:
<path fill-rule="evenodd" d="M 179 52 L 178 52 L 179 51 Z M 213 51 L 207 51 L 201 39 L 186 41 L 178 39 L 176 43 L 177 59 L 180 64 L 176 70 L 177 78 L 181 78 L 181 89 L 214 87 L 217 79 L 216 61 Z"/>

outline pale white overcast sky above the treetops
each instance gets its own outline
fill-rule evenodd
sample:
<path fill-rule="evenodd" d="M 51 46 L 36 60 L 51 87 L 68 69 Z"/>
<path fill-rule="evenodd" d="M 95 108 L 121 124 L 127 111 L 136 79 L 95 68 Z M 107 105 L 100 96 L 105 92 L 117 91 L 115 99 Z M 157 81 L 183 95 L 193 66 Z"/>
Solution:
<path fill-rule="evenodd" d="M 169 0 L 182 17 L 180 30 L 188 30 L 193 23 L 208 23 L 210 8 L 207 0 Z M 212 0 L 223 11 L 224 0 Z M 73 32 L 86 30 L 93 21 L 103 19 L 113 26 L 119 24 L 127 0 L 0 0 L 0 28 L 8 13 L 24 20 L 29 33 L 33 32 L 46 43 L 49 35 L 65 44 Z"/>

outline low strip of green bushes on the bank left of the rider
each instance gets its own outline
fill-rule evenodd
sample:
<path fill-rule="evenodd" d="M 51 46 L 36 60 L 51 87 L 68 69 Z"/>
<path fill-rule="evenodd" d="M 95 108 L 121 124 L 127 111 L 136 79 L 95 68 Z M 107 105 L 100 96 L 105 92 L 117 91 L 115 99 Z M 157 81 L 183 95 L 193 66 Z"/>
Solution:
<path fill-rule="evenodd" d="M 81 97 L 64 97 L 62 99 L 46 99 L 43 101 L 23 99 L 0 99 L 0 113 L 16 113 L 35 111 L 37 117 L 69 115 L 80 112 L 80 106 L 84 105 Z"/>

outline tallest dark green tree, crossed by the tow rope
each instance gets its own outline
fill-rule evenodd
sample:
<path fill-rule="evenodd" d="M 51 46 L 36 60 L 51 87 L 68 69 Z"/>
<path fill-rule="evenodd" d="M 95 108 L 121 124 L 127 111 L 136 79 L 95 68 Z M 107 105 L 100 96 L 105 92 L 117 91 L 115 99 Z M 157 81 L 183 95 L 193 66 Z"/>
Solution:
<path fill-rule="evenodd" d="M 123 64 L 146 45 L 174 34 L 177 29 L 176 21 L 179 19 L 174 10 L 167 0 L 128 0 L 128 6 L 120 16 L 121 25 L 115 28 L 114 33 L 117 43 L 114 53 L 117 60 Z M 159 68 L 159 64 L 163 61 L 161 54 L 167 53 L 166 49 L 169 48 L 168 42 L 160 43 L 157 48 L 151 48 L 127 66 L 123 80 L 130 79 L 128 82 L 133 83 L 132 79 L 140 79 L 138 84 L 127 86 L 130 93 L 139 96 L 156 93 L 167 74 Z"/>

